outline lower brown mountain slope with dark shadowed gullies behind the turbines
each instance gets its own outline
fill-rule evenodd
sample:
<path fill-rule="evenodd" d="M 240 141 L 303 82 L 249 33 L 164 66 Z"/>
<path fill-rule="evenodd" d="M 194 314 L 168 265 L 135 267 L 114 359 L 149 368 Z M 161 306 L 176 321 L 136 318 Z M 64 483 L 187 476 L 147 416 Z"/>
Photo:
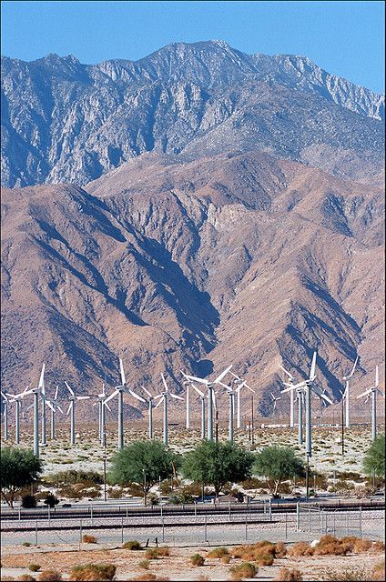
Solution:
<path fill-rule="evenodd" d="M 5 189 L 2 225 L 5 389 L 43 361 L 48 389 L 95 393 L 117 386 L 117 356 L 137 390 L 232 363 L 269 415 L 279 364 L 302 377 L 317 349 L 340 398 L 357 354 L 354 393 L 383 362 L 380 186 L 256 151 L 145 154 L 85 189 Z"/>

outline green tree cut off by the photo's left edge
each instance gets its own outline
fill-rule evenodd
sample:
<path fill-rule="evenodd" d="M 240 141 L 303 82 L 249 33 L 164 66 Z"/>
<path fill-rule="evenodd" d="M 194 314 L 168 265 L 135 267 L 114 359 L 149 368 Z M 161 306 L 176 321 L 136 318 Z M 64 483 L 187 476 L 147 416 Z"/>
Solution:
<path fill-rule="evenodd" d="M 10 507 L 23 487 L 36 482 L 43 469 L 42 461 L 31 449 L 4 447 L 1 450 L 1 495 Z"/>

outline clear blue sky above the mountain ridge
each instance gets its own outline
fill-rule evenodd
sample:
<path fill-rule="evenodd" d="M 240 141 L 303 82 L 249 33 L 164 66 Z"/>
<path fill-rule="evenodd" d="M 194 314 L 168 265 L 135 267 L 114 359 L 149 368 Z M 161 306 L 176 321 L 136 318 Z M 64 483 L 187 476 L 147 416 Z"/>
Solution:
<path fill-rule="evenodd" d="M 246 53 L 306 55 L 384 90 L 383 2 L 2 2 L 2 55 L 136 60 L 171 42 L 221 39 Z"/>

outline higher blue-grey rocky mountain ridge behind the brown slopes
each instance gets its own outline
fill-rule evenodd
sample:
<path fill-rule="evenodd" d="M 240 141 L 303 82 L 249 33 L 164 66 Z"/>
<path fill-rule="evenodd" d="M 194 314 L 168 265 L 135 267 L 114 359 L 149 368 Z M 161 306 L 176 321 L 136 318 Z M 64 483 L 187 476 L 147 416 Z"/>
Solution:
<path fill-rule="evenodd" d="M 269 153 L 362 182 L 382 164 L 384 97 L 309 59 L 222 41 L 137 62 L 2 59 L 2 184 L 90 180 L 146 152 Z"/>

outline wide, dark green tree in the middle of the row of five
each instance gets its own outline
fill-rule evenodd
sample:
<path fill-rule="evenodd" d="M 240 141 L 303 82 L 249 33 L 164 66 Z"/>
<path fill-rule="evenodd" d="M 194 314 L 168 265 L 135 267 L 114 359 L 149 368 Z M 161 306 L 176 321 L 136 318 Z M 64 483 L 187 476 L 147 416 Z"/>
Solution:
<path fill-rule="evenodd" d="M 238 445 L 204 440 L 188 452 L 182 464 L 184 477 L 212 485 L 216 497 L 230 481 L 237 483 L 250 477 L 253 455 Z"/>

